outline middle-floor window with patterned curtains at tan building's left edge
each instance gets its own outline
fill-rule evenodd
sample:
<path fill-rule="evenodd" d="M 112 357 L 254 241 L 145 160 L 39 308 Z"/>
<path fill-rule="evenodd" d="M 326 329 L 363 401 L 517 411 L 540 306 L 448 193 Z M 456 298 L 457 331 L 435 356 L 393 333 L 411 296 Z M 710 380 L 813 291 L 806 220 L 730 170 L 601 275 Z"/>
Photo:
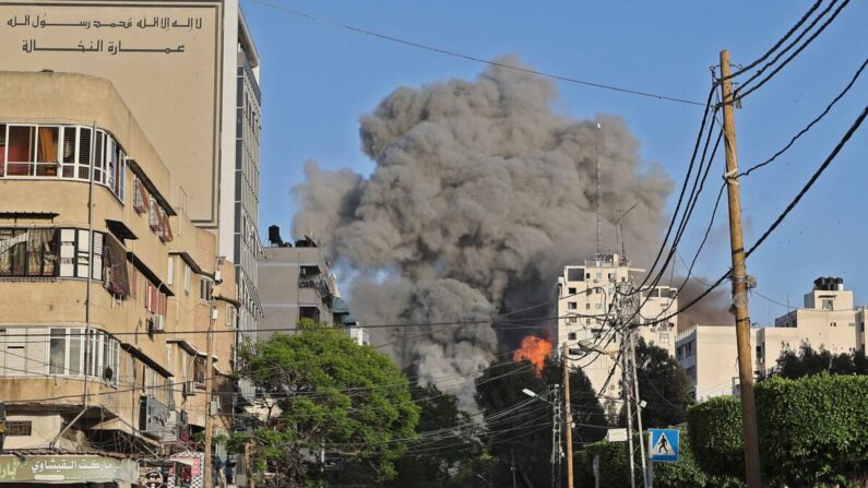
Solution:
<path fill-rule="evenodd" d="M 0 276 L 55 276 L 57 229 L 0 228 Z"/>

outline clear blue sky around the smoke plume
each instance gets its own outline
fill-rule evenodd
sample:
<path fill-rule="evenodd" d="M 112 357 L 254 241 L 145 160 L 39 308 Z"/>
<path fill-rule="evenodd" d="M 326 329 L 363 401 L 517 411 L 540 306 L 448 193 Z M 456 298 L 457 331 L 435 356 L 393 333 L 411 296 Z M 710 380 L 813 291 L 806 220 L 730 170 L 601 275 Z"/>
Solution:
<path fill-rule="evenodd" d="M 748 63 L 769 49 L 812 2 L 523 2 L 397 0 L 267 0 L 313 15 L 316 22 L 241 0 L 261 57 L 263 93 L 260 233 L 277 224 L 290 233 L 297 203 L 290 189 L 304 180 L 307 159 L 328 168 L 373 167 L 361 153 L 358 118 L 400 86 L 474 79 L 485 66 L 382 38 L 346 24 L 441 49 L 494 59 L 515 53 L 535 70 L 618 87 L 704 102 L 710 68 L 728 49 Z M 728 14 L 727 14 L 728 12 Z M 868 56 L 868 2 L 852 1 L 805 51 L 736 110 L 741 168 L 761 162 L 818 116 Z M 868 70 L 866 70 L 868 71 Z M 773 164 L 740 185 L 748 246 L 783 212 L 832 151 L 868 100 L 868 74 L 813 130 Z M 554 109 L 586 119 L 614 114 L 642 144 L 646 165 L 659 164 L 680 185 L 702 107 L 567 82 L 557 83 Z M 758 286 L 751 319 L 772 324 L 801 306 L 818 276 L 840 276 L 856 301 L 868 303 L 868 127 L 857 132 L 806 198 L 748 260 Z M 680 246 L 695 252 L 711 216 L 724 159 L 712 170 Z M 605 168 L 603 168 L 605 171 Z M 675 206 L 676 195 L 668 207 Z M 540 218 L 545 218 L 540 215 Z M 629 218 L 629 217 L 628 217 Z M 695 271 L 715 279 L 729 265 L 725 203 Z M 659 242 L 628 242 L 659 246 Z M 629 248 L 628 248 L 629 251 Z M 649 263 L 634 263 L 647 266 Z M 683 272 L 682 266 L 676 271 Z M 771 299 L 771 300 L 769 300 Z M 774 301 L 778 302 L 775 303 Z"/>

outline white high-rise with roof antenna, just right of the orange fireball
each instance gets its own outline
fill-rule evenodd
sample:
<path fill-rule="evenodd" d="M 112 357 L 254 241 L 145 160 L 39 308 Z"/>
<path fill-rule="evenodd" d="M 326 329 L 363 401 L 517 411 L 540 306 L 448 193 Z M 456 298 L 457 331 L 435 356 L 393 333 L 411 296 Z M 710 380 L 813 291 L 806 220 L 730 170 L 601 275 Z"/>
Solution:
<path fill-rule="evenodd" d="M 555 287 L 558 350 L 566 342 L 570 366 L 585 372 L 594 390 L 605 398 L 604 404 L 609 400 L 617 403 L 614 398 L 620 391 L 621 370 L 615 358 L 621 336 L 615 324 L 629 320 L 646 343 L 663 347 L 670 355 L 675 352 L 677 317 L 663 323 L 654 321 L 678 310 L 677 290 L 656 286 L 630 295 L 641 282 L 638 277 L 642 272 L 630 267 L 625 255 L 599 253 L 583 264 L 564 266 Z M 610 374 L 613 370 L 615 373 Z"/>

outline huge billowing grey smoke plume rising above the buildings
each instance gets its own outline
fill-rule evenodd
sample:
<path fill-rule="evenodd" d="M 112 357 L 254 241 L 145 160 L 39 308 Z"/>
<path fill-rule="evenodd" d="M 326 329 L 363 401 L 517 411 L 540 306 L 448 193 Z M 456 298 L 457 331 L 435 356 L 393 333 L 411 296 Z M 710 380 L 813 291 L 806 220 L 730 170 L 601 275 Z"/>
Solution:
<path fill-rule="evenodd" d="M 353 270 L 349 298 L 364 322 L 485 320 L 548 299 L 561 266 L 595 250 L 597 143 L 604 247 L 614 247 L 613 223 L 638 204 L 623 230 L 632 260 L 647 260 L 671 181 L 642 165 L 623 120 L 557 115 L 556 97 L 550 81 L 497 67 L 474 81 L 401 87 L 361 118 L 370 176 L 307 163 L 307 182 L 294 189 L 295 234 L 317 236 Z M 421 333 L 431 329 L 439 332 Z M 469 406 L 466 380 L 518 343 L 496 329 L 374 332 L 421 381 Z"/>

